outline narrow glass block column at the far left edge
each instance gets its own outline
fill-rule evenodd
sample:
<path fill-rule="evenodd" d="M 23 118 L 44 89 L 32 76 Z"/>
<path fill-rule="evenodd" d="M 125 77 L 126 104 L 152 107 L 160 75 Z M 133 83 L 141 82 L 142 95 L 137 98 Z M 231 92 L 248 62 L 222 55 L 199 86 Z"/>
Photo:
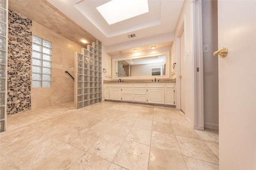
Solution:
<path fill-rule="evenodd" d="M 0 1 L 0 132 L 6 131 L 8 0 Z"/>

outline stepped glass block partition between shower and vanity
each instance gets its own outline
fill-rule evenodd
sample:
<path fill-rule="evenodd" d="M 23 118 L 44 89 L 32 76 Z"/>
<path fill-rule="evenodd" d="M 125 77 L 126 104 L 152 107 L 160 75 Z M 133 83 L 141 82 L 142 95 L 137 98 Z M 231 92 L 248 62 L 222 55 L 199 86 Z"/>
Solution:
<path fill-rule="evenodd" d="M 96 41 L 75 53 L 76 109 L 102 101 L 102 43 Z"/>

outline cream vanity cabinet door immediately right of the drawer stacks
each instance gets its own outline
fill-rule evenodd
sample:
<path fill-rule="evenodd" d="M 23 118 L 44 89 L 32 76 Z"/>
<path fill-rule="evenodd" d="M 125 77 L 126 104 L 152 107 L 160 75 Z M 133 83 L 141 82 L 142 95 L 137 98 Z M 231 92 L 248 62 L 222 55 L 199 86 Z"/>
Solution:
<path fill-rule="evenodd" d="M 148 88 L 147 100 L 148 103 L 164 104 L 164 88 Z"/>

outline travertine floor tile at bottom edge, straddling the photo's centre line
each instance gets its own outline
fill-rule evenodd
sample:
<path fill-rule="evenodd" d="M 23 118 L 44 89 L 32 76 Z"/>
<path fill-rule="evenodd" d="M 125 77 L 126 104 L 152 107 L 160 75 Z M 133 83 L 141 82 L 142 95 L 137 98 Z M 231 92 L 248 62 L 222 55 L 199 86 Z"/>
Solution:
<path fill-rule="evenodd" d="M 113 162 L 130 170 L 148 169 L 149 146 L 125 140 Z"/>

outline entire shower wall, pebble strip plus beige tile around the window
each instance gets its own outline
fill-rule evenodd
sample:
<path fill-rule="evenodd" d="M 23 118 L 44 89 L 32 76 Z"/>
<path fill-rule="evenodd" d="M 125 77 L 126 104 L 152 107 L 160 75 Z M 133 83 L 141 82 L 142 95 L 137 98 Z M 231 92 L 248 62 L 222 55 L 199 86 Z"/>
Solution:
<path fill-rule="evenodd" d="M 11 23 L 9 21 L 8 60 L 11 61 L 8 61 L 10 72 L 8 74 L 8 80 L 10 79 L 8 106 L 12 108 L 12 112 L 9 110 L 8 114 L 74 102 L 74 80 L 65 71 L 74 75 L 74 53 L 83 47 L 12 10 L 9 12 Z M 31 88 L 32 35 L 52 42 L 52 86 L 50 88 Z M 26 41 L 23 41 L 24 39 Z"/>

